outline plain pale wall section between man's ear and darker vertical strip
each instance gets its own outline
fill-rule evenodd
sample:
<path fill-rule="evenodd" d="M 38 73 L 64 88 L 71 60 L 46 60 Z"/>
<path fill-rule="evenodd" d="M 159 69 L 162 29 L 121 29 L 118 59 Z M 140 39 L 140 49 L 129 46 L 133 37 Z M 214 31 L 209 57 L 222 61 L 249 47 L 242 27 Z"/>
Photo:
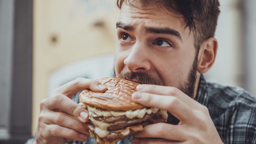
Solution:
<path fill-rule="evenodd" d="M 215 32 L 218 52 L 213 67 L 206 73 L 208 81 L 244 87 L 245 70 L 241 0 L 220 0 L 220 16 Z"/>

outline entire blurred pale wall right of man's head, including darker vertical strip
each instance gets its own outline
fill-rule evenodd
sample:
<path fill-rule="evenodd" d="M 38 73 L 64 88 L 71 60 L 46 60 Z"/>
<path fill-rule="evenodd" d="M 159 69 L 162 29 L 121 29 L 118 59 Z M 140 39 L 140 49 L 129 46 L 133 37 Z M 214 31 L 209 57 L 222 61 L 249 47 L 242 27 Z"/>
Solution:
<path fill-rule="evenodd" d="M 208 81 L 236 85 L 256 95 L 255 0 L 220 0 L 218 53 Z"/>

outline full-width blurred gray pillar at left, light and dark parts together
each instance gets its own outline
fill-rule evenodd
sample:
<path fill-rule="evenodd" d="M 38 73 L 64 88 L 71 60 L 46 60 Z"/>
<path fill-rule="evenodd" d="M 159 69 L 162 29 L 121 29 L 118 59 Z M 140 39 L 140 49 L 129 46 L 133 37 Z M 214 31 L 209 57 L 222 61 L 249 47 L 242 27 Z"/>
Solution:
<path fill-rule="evenodd" d="M 0 143 L 31 137 L 32 1 L 0 0 Z"/>

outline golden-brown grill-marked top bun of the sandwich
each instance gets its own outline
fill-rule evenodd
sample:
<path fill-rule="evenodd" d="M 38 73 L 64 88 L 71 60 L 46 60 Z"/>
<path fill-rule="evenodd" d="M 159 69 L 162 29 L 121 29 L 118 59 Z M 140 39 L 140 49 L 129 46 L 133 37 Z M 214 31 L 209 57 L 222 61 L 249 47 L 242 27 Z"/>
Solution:
<path fill-rule="evenodd" d="M 101 78 L 100 81 L 108 90 L 104 93 L 93 92 L 85 89 L 80 94 L 80 102 L 106 110 L 135 110 L 145 106 L 131 100 L 131 95 L 136 92 L 138 83 L 123 78 Z"/>

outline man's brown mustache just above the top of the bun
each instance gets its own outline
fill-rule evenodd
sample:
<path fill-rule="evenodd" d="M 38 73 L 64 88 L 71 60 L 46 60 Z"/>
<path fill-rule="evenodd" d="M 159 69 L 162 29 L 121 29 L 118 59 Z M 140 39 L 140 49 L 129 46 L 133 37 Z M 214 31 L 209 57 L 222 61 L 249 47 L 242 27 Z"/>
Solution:
<path fill-rule="evenodd" d="M 134 73 L 131 72 L 130 70 L 123 69 L 120 74 L 118 75 L 119 78 L 124 78 L 124 79 L 135 79 L 138 81 L 140 84 L 154 84 L 154 85 L 164 85 L 162 80 L 158 78 L 154 78 L 152 75 L 147 74 L 147 73 Z"/>

